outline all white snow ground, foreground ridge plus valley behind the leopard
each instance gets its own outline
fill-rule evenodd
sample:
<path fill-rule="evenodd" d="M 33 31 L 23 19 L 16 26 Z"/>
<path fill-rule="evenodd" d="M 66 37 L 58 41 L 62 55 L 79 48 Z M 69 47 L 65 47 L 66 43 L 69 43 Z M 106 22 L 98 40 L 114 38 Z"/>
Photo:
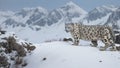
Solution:
<path fill-rule="evenodd" d="M 51 27 L 46 25 L 40 32 L 28 28 L 23 30 L 15 33 L 37 43 L 31 55 L 24 58 L 28 63 L 24 68 L 120 68 L 120 53 L 99 51 L 99 46 L 104 45 L 101 41 L 98 41 L 98 47 L 91 47 L 90 41 L 84 40 L 80 40 L 79 46 L 72 45 L 72 42 L 58 41 L 60 38 L 71 37 L 63 31 L 64 23 L 59 22 Z"/>

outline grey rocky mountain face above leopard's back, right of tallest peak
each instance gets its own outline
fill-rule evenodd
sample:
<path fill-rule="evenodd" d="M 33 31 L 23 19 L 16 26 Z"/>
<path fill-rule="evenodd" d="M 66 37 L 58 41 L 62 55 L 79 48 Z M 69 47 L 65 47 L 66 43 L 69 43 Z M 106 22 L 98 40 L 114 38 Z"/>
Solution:
<path fill-rule="evenodd" d="M 86 17 L 88 22 L 89 21 L 94 21 L 97 19 L 101 19 L 102 17 L 106 16 L 107 14 L 115 11 L 118 7 L 115 7 L 113 5 L 110 6 L 100 6 L 100 7 L 96 7 L 95 9 L 91 10 L 88 13 L 88 16 Z"/>

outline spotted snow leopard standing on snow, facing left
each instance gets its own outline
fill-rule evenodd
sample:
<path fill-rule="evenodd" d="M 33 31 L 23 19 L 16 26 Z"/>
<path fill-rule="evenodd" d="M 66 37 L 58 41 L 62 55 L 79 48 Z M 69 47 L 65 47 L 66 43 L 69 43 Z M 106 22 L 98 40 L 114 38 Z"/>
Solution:
<path fill-rule="evenodd" d="M 106 50 L 108 47 L 115 49 L 115 34 L 110 26 L 67 23 L 65 24 L 65 31 L 71 33 L 74 45 L 79 45 L 79 41 L 82 39 L 91 41 L 92 46 L 97 47 L 97 41 L 101 40 L 105 44 L 101 50 Z"/>

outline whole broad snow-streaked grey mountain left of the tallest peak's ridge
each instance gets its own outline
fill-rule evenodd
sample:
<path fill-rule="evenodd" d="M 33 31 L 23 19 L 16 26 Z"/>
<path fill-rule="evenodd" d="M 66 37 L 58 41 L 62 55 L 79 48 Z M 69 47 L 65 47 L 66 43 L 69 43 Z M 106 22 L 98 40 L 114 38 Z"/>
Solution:
<path fill-rule="evenodd" d="M 46 16 L 47 13 L 47 10 L 42 7 L 23 8 L 21 11 L 16 12 L 13 16 L 4 21 L 4 24 L 14 27 L 25 27 L 27 24 L 33 25 L 37 20 Z"/>

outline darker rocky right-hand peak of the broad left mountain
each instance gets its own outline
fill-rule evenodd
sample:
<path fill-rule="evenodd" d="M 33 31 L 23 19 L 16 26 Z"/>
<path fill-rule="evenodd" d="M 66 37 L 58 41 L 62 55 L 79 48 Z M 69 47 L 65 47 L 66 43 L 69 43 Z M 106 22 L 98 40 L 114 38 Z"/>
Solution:
<path fill-rule="evenodd" d="M 34 8 L 33 8 L 34 9 Z M 26 21 L 28 25 L 38 25 L 38 26 L 44 26 L 43 22 L 41 21 L 48 15 L 48 11 L 42 7 L 37 7 L 33 14 L 29 17 L 29 19 Z"/>

